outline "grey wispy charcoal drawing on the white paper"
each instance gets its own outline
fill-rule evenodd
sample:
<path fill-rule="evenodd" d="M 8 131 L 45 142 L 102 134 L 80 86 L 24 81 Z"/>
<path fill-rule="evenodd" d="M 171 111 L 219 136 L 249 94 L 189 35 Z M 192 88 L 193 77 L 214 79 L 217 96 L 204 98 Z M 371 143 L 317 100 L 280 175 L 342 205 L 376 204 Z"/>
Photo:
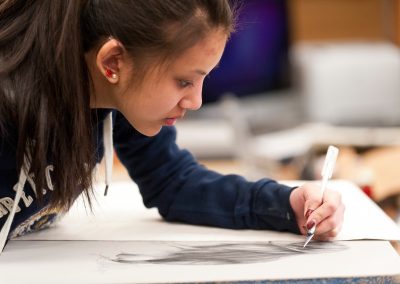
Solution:
<path fill-rule="evenodd" d="M 140 243 L 140 244 L 139 244 Z M 109 260 L 130 264 L 215 265 L 269 262 L 304 254 L 331 253 L 347 249 L 338 242 L 138 242 L 138 246 Z M 139 248 L 140 246 L 140 248 Z"/>

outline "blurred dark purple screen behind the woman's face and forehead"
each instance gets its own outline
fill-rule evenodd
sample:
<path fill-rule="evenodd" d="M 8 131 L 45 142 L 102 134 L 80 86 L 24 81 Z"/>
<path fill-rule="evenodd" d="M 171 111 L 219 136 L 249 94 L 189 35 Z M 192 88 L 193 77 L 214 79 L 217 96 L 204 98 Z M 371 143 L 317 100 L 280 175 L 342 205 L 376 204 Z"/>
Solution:
<path fill-rule="evenodd" d="M 226 92 L 253 95 L 288 85 L 288 23 L 283 0 L 244 1 L 220 67 L 206 79 L 204 102 Z"/>

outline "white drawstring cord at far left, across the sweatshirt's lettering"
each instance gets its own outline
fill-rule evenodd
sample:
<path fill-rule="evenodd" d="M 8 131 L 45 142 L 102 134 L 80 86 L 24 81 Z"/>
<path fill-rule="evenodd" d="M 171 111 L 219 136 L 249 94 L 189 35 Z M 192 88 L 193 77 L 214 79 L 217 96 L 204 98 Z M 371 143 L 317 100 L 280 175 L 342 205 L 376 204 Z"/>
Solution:
<path fill-rule="evenodd" d="M 11 224 L 12 224 L 12 221 L 14 220 L 14 215 L 15 215 L 15 212 L 17 211 L 18 203 L 19 203 L 19 200 L 21 199 L 22 192 L 24 190 L 24 186 L 26 183 L 26 175 L 27 175 L 28 171 L 29 171 L 29 163 L 25 157 L 24 165 L 22 166 L 21 171 L 19 172 L 17 192 L 16 192 L 15 198 L 14 198 L 14 204 L 10 211 L 10 215 L 8 215 L 8 218 L 7 218 L 6 222 L 4 223 L 3 228 L 1 229 L 1 232 L 0 232 L 0 254 L 3 252 L 4 246 L 6 245 L 8 233 L 10 232 Z"/>

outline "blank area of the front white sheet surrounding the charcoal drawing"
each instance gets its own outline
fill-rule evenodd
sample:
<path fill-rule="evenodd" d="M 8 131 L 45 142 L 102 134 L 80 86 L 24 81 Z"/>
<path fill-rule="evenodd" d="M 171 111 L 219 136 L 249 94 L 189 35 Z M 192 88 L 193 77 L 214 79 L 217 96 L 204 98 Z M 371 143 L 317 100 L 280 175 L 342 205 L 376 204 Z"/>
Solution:
<path fill-rule="evenodd" d="M 329 244 L 329 243 L 326 243 Z M 170 243 L 138 241 L 13 241 L 0 256 L 1 283 L 221 282 L 400 274 L 387 241 L 346 241 L 336 251 L 290 254 L 237 264 L 119 263 L 121 252 L 160 255 Z M 166 249 L 167 248 L 167 249 Z M 160 252 L 161 251 L 161 252 Z M 323 252 L 323 253 L 321 253 Z M 384 281 L 379 281 L 379 283 Z M 357 281 L 357 283 L 359 283 Z M 385 282 L 386 283 L 386 282 Z M 387 282 L 389 283 L 389 282 Z M 394 282 L 393 282 L 394 283 Z"/>

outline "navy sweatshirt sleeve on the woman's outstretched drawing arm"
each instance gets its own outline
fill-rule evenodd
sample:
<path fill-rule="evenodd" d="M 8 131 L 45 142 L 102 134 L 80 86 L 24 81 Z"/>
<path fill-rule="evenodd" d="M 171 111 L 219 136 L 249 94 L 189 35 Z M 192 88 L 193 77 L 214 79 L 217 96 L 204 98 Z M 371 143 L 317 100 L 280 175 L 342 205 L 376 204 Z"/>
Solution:
<path fill-rule="evenodd" d="M 270 179 L 249 182 L 210 171 L 179 149 L 175 139 L 174 127 L 146 137 L 117 113 L 115 150 L 146 207 L 157 207 L 167 221 L 299 233 L 289 204 L 293 188 Z"/>

